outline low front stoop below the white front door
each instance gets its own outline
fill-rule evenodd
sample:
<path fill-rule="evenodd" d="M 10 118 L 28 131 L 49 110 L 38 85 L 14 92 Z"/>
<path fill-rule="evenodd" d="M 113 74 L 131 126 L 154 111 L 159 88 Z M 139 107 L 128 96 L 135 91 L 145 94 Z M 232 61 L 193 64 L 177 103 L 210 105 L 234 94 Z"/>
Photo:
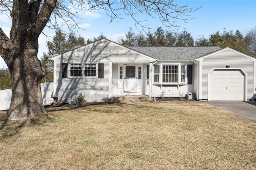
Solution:
<path fill-rule="evenodd" d="M 152 101 L 152 97 L 146 95 L 115 95 L 112 96 L 112 102 L 117 103 L 136 103 L 143 101 Z"/>

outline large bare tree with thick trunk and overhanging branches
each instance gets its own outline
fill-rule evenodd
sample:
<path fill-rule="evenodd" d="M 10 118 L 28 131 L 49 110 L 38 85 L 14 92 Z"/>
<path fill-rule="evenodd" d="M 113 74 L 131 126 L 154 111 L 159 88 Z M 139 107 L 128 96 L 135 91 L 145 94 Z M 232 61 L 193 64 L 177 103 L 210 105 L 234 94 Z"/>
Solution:
<path fill-rule="evenodd" d="M 10 38 L 0 28 L 0 55 L 12 76 L 12 100 L 7 119 L 31 119 L 46 114 L 40 87 L 45 70 L 37 57 L 38 37 L 47 23 L 49 27 L 58 28 L 59 19 L 68 26 L 72 26 L 70 21 L 78 26 L 76 13 L 68 9 L 69 5 L 76 4 L 80 9 L 88 6 L 89 10 L 107 10 L 110 21 L 122 18 L 123 10 L 141 26 L 145 25 L 136 20 L 138 13 L 158 16 L 163 24 L 174 26 L 173 18 L 190 20 L 188 15 L 196 10 L 179 6 L 173 0 L 1 0 L 0 10 L 8 10 L 12 19 Z"/>

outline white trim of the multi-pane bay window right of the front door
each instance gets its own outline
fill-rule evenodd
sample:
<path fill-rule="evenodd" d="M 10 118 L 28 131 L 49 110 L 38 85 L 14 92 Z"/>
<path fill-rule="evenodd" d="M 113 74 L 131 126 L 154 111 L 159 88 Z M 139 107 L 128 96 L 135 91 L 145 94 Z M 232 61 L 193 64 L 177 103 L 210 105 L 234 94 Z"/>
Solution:
<path fill-rule="evenodd" d="M 188 75 L 187 75 L 187 64 L 173 64 L 173 63 L 160 63 L 157 64 L 160 66 L 160 73 L 159 73 L 159 83 L 158 82 L 154 82 L 154 75 L 155 72 L 153 74 L 153 84 L 155 85 L 186 85 L 188 82 Z M 163 83 L 163 65 L 178 65 L 178 82 L 174 82 L 174 83 Z M 185 65 L 185 82 L 181 82 L 181 65 Z M 155 65 L 154 65 L 155 66 Z M 153 68 L 154 71 L 154 68 Z"/>

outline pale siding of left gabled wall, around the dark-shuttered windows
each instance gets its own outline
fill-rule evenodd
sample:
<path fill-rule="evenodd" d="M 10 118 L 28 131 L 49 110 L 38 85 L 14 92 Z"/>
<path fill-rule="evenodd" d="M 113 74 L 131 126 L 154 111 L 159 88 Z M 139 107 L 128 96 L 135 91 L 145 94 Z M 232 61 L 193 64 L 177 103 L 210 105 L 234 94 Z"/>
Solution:
<path fill-rule="evenodd" d="M 114 88 L 117 85 L 115 74 L 118 73 L 116 63 L 149 63 L 152 60 L 153 59 L 150 57 L 146 57 L 145 55 L 107 40 L 100 40 L 68 51 L 54 59 L 54 66 L 56 66 L 54 68 L 54 80 L 56 85 L 54 95 L 62 100 L 68 98 L 76 99 L 80 92 L 82 92 L 85 99 L 103 99 L 104 97 L 110 97 L 111 88 L 112 94 L 115 94 L 117 89 Z M 61 75 L 62 63 L 68 63 L 68 65 L 70 65 L 70 63 L 97 63 L 96 68 L 98 63 L 102 63 L 104 64 L 104 78 L 99 79 L 97 76 L 82 76 L 63 79 Z M 110 68 L 110 63 L 112 63 L 113 68 Z M 109 69 L 112 69 L 112 75 L 109 75 Z M 96 69 L 96 72 L 97 71 Z M 82 74 L 84 74 L 83 72 L 84 68 L 82 69 Z M 113 78 L 112 82 L 110 82 L 110 77 Z M 110 87 L 111 84 L 112 87 Z"/>

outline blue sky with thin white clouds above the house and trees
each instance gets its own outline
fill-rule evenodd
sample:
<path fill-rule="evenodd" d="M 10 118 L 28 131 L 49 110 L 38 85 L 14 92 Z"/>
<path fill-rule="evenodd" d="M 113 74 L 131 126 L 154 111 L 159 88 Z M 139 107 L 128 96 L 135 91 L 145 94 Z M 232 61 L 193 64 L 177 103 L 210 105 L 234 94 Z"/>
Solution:
<path fill-rule="evenodd" d="M 137 21 L 145 20 L 141 22 L 142 25 L 147 25 L 150 31 L 154 33 L 158 27 L 162 27 L 163 30 L 178 31 L 182 32 L 184 28 L 190 32 L 194 41 L 200 36 L 208 38 L 210 34 L 214 34 L 217 31 L 223 32 L 224 28 L 227 31 L 232 30 L 233 33 L 239 30 L 244 36 L 250 31 L 254 26 L 256 26 L 256 0 L 174 0 L 174 4 L 178 5 L 188 5 L 188 7 L 197 7 L 198 10 L 191 12 L 188 17 L 193 18 L 192 20 L 171 20 L 178 27 L 166 27 L 162 24 L 159 18 L 152 18 L 146 14 L 137 14 Z M 70 6 L 72 10 L 78 11 L 79 8 Z M 10 28 L 12 25 L 11 19 L 8 17 L 8 12 L 0 13 L 0 27 L 9 37 Z M 118 42 L 118 38 L 125 37 L 128 33 L 130 27 L 134 32 L 142 31 L 146 34 L 149 30 L 144 29 L 137 25 L 135 26 L 135 21 L 128 15 L 124 13 L 121 15 L 122 19 L 114 20 L 110 22 L 110 17 L 106 14 L 106 11 L 86 11 L 85 15 L 78 13 L 80 19 L 76 21 L 79 23 L 79 27 L 83 29 L 75 30 L 75 33 L 85 40 L 90 38 L 93 40 L 94 37 L 98 37 L 101 33 L 106 36 L 108 40 L 113 42 Z M 64 30 L 68 30 L 67 26 L 59 20 L 59 24 L 63 25 Z M 48 36 L 54 36 L 55 30 L 50 30 L 45 28 L 43 30 L 44 34 Z M 68 30 L 66 33 L 68 34 Z M 47 53 L 48 49 L 46 46 L 46 41 L 48 39 L 43 34 L 40 35 L 38 39 L 39 50 L 38 58 L 42 57 L 42 53 Z M 0 57 L 0 68 L 7 68 L 2 57 Z"/>

